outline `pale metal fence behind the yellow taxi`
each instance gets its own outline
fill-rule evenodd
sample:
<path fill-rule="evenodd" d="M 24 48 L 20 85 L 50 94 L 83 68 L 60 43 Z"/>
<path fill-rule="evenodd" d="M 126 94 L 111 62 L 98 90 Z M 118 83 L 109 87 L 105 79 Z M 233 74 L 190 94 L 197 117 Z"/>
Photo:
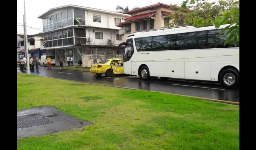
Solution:
<path fill-rule="evenodd" d="M 111 58 L 123 59 L 123 54 L 84 54 L 82 55 L 83 67 L 91 67 L 92 64 Z"/>

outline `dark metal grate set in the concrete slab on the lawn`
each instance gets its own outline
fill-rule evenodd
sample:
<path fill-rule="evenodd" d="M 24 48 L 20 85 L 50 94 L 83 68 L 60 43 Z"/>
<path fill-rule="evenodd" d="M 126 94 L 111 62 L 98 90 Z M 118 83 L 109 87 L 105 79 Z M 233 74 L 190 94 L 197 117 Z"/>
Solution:
<path fill-rule="evenodd" d="M 37 114 L 17 116 L 17 129 L 46 125 L 48 123 L 51 122 Z"/>

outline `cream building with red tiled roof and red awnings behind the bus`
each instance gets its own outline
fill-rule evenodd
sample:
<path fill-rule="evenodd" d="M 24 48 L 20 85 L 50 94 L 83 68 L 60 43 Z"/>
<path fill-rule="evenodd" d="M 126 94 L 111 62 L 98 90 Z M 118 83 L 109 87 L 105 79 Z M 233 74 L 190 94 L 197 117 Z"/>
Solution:
<path fill-rule="evenodd" d="M 157 4 L 126 11 L 125 14 L 131 16 L 124 18 L 124 22 L 116 25 L 120 27 L 119 35 L 122 35 L 123 42 L 126 41 L 128 35 L 134 32 L 161 29 L 161 27 L 168 28 L 167 23 L 171 23 L 173 19 L 167 18 L 167 16 L 180 8 L 176 6 L 171 9 L 171 7 L 172 4 L 158 2 Z"/>

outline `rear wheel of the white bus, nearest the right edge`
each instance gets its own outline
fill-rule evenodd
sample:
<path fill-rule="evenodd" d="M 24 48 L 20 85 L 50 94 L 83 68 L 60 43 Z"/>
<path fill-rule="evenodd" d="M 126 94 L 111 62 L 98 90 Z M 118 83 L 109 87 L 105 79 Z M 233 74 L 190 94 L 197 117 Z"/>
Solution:
<path fill-rule="evenodd" d="M 225 88 L 235 89 L 239 87 L 239 72 L 233 68 L 227 68 L 220 73 L 219 81 Z"/>

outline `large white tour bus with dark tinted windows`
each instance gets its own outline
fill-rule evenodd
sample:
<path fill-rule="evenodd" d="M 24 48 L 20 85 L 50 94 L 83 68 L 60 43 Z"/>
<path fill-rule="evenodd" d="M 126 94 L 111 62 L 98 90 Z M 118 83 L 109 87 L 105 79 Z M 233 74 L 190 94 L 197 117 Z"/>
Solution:
<path fill-rule="evenodd" d="M 137 32 L 128 36 L 123 72 L 161 79 L 177 78 L 220 82 L 226 88 L 239 87 L 239 42 L 226 44 L 226 32 L 215 26 L 180 26 Z"/>

